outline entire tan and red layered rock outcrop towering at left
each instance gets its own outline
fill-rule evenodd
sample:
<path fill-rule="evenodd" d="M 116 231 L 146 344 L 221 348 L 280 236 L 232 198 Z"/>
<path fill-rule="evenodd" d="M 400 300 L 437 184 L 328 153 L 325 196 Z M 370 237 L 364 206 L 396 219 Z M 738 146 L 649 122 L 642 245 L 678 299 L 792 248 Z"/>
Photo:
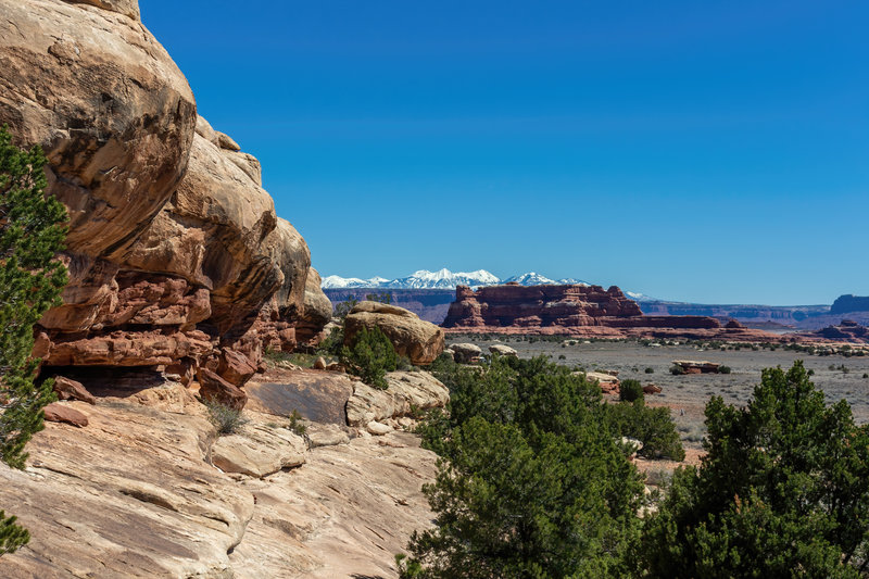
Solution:
<path fill-rule="evenodd" d="M 256 159 L 198 116 L 135 0 L 0 0 L 0 124 L 42 146 L 70 214 L 70 284 L 36 351 L 51 372 L 207 368 L 240 386 L 234 366 L 291 350 L 297 328 L 315 339 L 330 307 L 304 239 Z"/>

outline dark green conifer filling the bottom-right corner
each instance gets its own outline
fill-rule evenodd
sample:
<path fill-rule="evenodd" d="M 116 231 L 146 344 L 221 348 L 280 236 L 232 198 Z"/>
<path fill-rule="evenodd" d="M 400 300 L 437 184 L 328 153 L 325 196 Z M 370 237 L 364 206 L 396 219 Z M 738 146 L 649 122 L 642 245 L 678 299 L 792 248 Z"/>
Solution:
<path fill-rule="evenodd" d="M 647 520 L 647 577 L 866 577 L 869 427 L 827 406 L 802 362 L 764 370 L 746 407 L 714 397 L 708 452 Z"/>

